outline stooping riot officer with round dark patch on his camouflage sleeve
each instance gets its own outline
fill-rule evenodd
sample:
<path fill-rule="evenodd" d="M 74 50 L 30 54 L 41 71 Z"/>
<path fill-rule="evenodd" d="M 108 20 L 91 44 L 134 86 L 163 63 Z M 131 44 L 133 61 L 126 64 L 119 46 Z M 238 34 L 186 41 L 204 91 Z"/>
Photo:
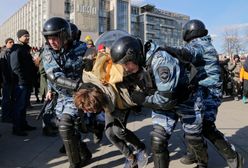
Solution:
<path fill-rule="evenodd" d="M 136 44 L 136 45 L 135 45 Z M 197 156 L 199 167 L 207 166 L 207 150 L 201 136 L 201 92 L 195 92 L 192 97 L 177 104 L 177 88 L 182 77 L 183 69 L 179 61 L 162 51 L 154 43 L 145 45 L 147 69 L 155 85 L 146 90 L 155 90 L 152 93 L 134 91 L 131 95 L 138 105 L 152 109 L 153 131 L 151 132 L 151 146 L 154 166 L 156 168 L 169 167 L 168 140 L 173 132 L 179 117 L 182 118 L 183 129 L 191 148 Z M 143 49 L 133 37 L 120 38 L 111 48 L 113 62 L 122 64 L 127 74 L 132 74 L 144 65 Z M 192 104 L 195 103 L 195 108 Z M 197 108 L 196 108 L 197 107 Z"/>

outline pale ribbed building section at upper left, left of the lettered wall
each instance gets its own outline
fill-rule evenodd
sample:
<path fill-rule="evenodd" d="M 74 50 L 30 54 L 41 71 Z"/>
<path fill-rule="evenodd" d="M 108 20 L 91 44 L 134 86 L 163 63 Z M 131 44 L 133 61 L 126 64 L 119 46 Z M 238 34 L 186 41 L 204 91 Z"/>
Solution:
<path fill-rule="evenodd" d="M 30 33 L 30 45 L 42 46 L 44 43 L 41 34 L 43 23 L 52 16 L 64 17 L 64 8 L 61 0 L 29 0 L 1 25 L 0 45 L 4 45 L 4 40 L 8 37 L 17 41 L 17 31 L 27 29 Z"/>

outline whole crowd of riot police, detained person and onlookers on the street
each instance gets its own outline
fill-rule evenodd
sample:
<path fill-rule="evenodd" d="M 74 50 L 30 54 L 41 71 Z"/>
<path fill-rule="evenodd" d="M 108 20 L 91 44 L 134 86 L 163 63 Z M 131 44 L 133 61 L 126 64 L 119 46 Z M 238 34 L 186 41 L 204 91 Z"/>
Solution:
<path fill-rule="evenodd" d="M 2 121 L 13 123 L 16 136 L 36 129 L 27 123 L 26 111 L 32 87 L 38 93 L 39 80 L 43 134 L 60 134 L 59 151 L 67 154 L 70 168 L 83 167 L 92 158 L 81 139 L 87 132 L 94 134 L 95 143 L 105 132 L 125 156 L 125 168 L 146 167 L 147 147 L 126 127 L 130 111 L 142 107 L 152 110 L 155 168 L 169 167 L 168 141 L 178 121 L 187 146 L 183 164 L 211 167 L 207 139 L 230 168 L 243 168 L 244 158 L 215 121 L 222 94 L 229 94 L 229 74 L 230 94 L 236 99 L 242 81 L 246 101 L 248 66 L 242 66 L 238 56 L 220 63 L 202 21 L 190 20 L 183 29 L 185 46 L 158 46 L 152 39 L 143 44 L 130 34 L 120 36 L 111 47 L 95 46 L 90 36 L 80 41 L 75 24 L 52 17 L 43 25 L 46 43 L 40 49 L 28 45 L 27 30 L 19 30 L 18 44 L 6 39 L 0 54 Z"/>

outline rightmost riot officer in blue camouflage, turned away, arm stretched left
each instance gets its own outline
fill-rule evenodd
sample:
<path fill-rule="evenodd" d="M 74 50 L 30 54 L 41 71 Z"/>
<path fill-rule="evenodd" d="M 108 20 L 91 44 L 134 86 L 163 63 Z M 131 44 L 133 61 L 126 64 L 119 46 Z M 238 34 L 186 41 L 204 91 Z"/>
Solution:
<path fill-rule="evenodd" d="M 230 168 L 242 168 L 243 157 L 235 151 L 224 135 L 216 128 L 215 120 L 218 107 L 221 104 L 221 72 L 218 54 L 211 43 L 204 23 L 200 20 L 190 20 L 183 27 L 184 47 L 169 47 L 165 49 L 178 59 L 191 62 L 197 69 L 198 90 L 204 92 L 203 134 L 227 160 Z M 188 150 L 181 159 L 182 163 L 192 164 L 195 156 Z"/>

